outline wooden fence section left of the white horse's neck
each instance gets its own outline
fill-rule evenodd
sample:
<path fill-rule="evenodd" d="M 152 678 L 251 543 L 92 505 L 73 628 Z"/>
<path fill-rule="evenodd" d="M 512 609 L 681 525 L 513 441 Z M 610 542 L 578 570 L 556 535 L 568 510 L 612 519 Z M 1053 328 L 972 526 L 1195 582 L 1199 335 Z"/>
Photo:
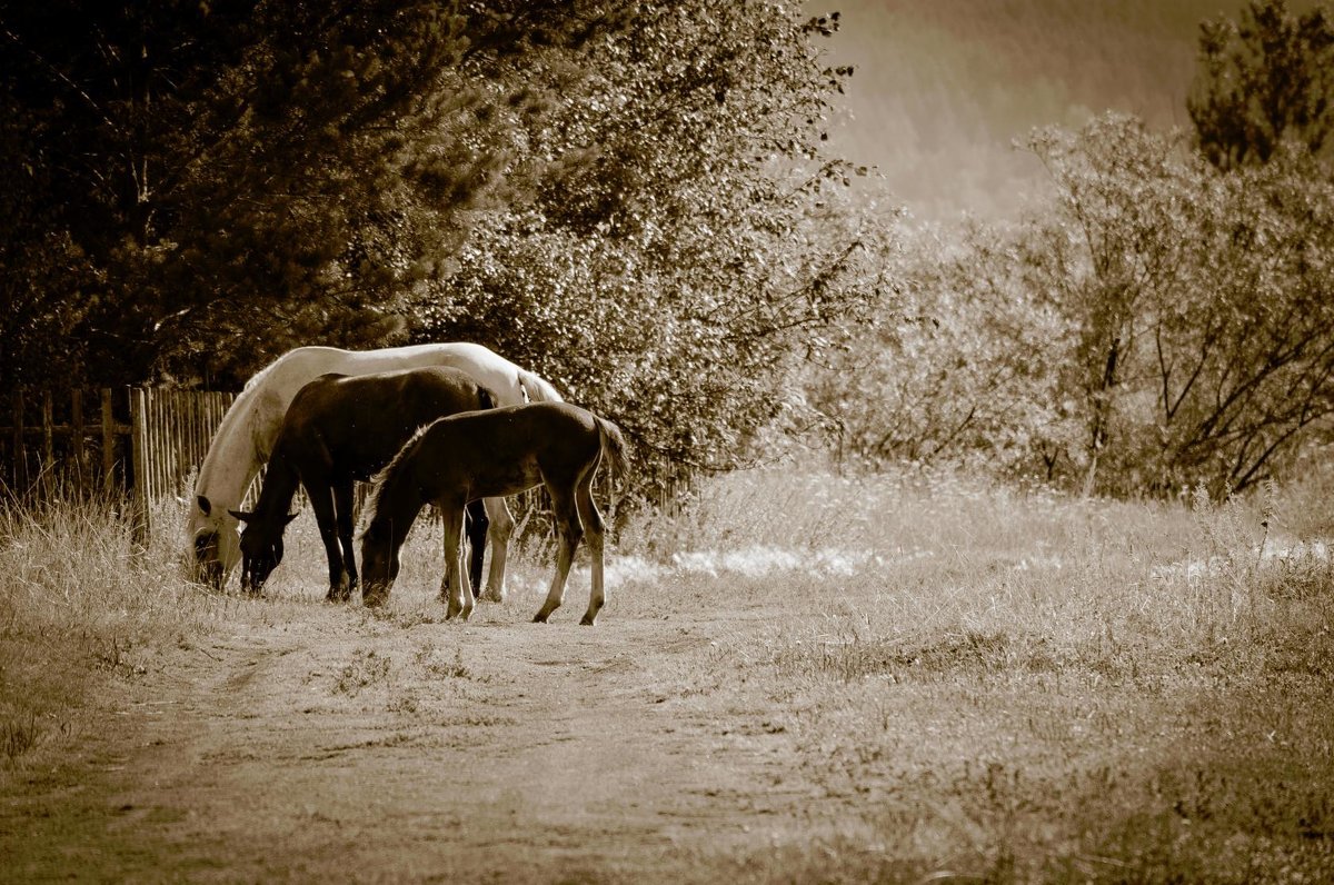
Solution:
<path fill-rule="evenodd" d="M 123 387 L 5 398 L 0 486 L 11 497 L 128 493 L 147 531 L 151 505 L 185 490 L 235 395 Z"/>

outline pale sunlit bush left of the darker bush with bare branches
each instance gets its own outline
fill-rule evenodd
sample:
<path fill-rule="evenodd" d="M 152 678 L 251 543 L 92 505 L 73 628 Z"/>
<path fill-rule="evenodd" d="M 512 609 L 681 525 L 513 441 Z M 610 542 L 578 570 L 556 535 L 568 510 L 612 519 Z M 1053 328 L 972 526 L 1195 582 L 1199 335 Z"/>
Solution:
<path fill-rule="evenodd" d="M 839 461 L 966 466 L 1053 479 L 1066 443 L 1059 366 L 1071 328 L 1025 278 L 1015 232 L 896 238 L 878 322 L 810 372 Z"/>

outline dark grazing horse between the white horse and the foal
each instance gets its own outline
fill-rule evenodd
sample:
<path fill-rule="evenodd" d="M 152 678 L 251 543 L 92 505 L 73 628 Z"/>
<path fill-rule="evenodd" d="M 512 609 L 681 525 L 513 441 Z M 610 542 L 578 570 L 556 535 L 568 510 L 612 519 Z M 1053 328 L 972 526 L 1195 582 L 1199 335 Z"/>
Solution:
<path fill-rule="evenodd" d="M 320 375 L 287 408 L 253 513 L 232 511 L 241 531 L 241 587 L 259 593 L 283 559 L 283 530 L 297 485 L 320 526 L 329 562 L 331 601 L 356 589 L 352 487 L 384 467 L 412 434 L 444 415 L 491 408 L 490 391 L 456 368 L 375 375 Z M 483 535 L 484 537 L 484 535 Z M 480 551 L 478 539 L 474 549 Z M 480 579 L 480 557 L 474 557 Z"/>

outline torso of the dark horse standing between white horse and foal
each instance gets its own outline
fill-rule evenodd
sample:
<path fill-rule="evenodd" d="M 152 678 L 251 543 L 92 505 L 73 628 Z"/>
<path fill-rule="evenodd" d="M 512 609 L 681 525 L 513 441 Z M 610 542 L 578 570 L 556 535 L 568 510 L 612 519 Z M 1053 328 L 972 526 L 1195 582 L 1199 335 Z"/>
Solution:
<path fill-rule="evenodd" d="M 490 408 L 490 392 L 442 366 L 374 375 L 321 375 L 292 399 L 283 442 L 340 475 L 370 478 L 418 428 L 442 415 Z"/>

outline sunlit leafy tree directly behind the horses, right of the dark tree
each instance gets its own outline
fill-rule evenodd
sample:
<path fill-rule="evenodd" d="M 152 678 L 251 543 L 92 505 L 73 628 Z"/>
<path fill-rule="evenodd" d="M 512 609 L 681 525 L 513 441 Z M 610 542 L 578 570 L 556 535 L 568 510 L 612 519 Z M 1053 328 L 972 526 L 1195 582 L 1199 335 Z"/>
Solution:
<path fill-rule="evenodd" d="M 794 406 L 800 360 L 864 312 L 883 243 L 822 156 L 850 73 L 794 4 L 622 9 L 579 52 L 475 59 L 551 111 L 507 156 L 527 200 L 479 208 L 452 274 L 404 306 L 420 338 L 488 343 L 616 416 L 664 465 L 726 469 Z M 560 96 L 559 101 L 547 96 Z"/>

